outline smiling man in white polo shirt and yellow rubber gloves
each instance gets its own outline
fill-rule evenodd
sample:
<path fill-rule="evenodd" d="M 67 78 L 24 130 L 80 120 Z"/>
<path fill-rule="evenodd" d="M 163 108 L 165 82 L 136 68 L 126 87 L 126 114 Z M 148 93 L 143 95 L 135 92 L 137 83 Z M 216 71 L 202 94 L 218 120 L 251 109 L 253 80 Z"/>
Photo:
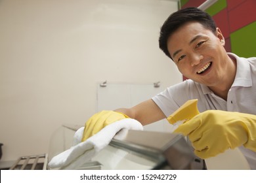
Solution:
<path fill-rule="evenodd" d="M 171 14 L 161 27 L 159 42 L 189 79 L 135 107 L 95 114 L 86 123 L 83 141 L 117 120 L 134 118 L 150 124 L 198 99 L 201 113 L 176 132 L 188 135 L 200 158 L 240 147 L 251 169 L 256 169 L 256 58 L 226 53 L 221 29 L 198 8 Z"/>

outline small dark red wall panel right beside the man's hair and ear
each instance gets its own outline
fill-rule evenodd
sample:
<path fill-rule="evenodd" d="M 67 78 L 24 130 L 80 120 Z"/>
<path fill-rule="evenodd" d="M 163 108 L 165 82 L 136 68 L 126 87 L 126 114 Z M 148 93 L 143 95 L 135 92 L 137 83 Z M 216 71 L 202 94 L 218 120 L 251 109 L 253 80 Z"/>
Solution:
<path fill-rule="evenodd" d="M 219 13 L 213 16 L 213 20 L 215 20 L 217 27 L 221 29 L 223 36 L 229 37 L 230 31 L 228 27 L 228 9 L 224 8 Z"/>

